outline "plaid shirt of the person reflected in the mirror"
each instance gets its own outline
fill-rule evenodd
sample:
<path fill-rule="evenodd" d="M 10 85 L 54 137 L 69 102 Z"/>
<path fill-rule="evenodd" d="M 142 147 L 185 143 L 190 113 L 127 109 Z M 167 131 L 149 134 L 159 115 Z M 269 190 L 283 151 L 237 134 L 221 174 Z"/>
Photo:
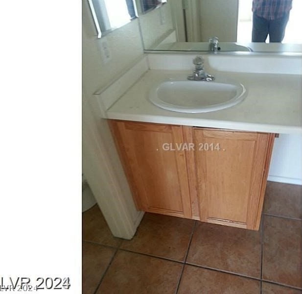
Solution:
<path fill-rule="evenodd" d="M 293 0 L 253 0 L 252 11 L 267 20 L 281 18 L 292 8 Z"/>

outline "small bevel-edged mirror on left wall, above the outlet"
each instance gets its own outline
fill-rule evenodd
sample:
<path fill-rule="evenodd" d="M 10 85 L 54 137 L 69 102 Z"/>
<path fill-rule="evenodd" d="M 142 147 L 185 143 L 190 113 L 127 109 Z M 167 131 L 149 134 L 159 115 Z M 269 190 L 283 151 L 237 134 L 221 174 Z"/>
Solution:
<path fill-rule="evenodd" d="M 88 2 L 98 38 L 137 18 L 133 0 L 88 0 Z"/>

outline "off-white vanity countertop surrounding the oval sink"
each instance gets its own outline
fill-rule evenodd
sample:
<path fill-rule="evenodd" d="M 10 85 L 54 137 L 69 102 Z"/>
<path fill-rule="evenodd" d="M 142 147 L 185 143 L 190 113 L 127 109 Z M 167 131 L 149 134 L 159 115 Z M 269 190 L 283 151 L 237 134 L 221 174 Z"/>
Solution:
<path fill-rule="evenodd" d="M 227 109 L 208 113 L 180 113 L 152 104 L 148 94 L 155 84 L 188 71 L 149 70 L 108 110 L 107 117 L 150 123 L 168 123 L 272 133 L 301 133 L 301 75 L 272 73 L 210 74 L 242 83 L 247 97 Z"/>

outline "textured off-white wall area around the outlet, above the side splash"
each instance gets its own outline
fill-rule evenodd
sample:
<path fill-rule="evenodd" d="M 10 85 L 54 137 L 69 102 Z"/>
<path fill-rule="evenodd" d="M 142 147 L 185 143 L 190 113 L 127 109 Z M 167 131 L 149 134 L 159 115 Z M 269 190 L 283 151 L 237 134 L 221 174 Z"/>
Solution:
<path fill-rule="evenodd" d="M 83 3 L 83 84 L 86 94 L 110 84 L 116 77 L 125 72 L 142 56 L 143 47 L 139 34 L 139 22 L 120 27 L 101 39 L 96 38 L 88 1 Z M 111 60 L 102 60 L 100 46 L 107 42 L 111 51 Z"/>

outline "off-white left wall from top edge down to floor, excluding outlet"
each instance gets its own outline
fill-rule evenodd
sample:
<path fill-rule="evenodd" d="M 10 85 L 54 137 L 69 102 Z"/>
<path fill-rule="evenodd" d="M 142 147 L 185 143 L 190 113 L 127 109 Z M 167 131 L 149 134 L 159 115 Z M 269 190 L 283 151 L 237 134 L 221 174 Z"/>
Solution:
<path fill-rule="evenodd" d="M 96 38 L 88 1 L 83 3 L 83 172 L 106 221 L 116 237 L 131 239 L 142 217 L 134 205 L 107 121 L 100 118 L 93 93 L 110 85 L 143 56 L 135 20 Z M 111 60 L 102 59 L 107 42 Z"/>

